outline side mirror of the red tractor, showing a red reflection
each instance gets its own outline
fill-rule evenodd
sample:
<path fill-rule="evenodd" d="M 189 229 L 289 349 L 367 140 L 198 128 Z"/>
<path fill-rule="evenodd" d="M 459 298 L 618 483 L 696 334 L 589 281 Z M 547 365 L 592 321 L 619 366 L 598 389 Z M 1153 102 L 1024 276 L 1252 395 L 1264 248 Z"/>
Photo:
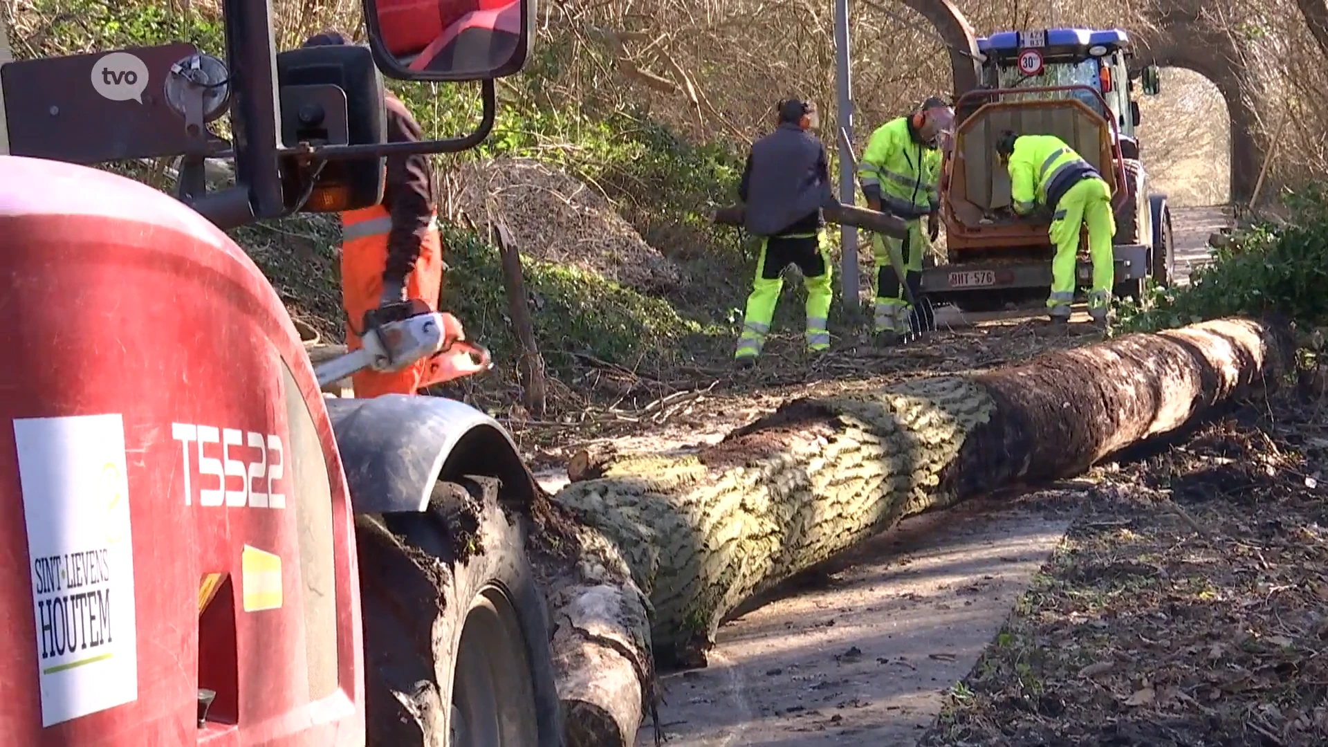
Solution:
<path fill-rule="evenodd" d="M 535 0 L 364 0 L 382 74 L 482 81 L 519 72 L 535 36 Z"/>

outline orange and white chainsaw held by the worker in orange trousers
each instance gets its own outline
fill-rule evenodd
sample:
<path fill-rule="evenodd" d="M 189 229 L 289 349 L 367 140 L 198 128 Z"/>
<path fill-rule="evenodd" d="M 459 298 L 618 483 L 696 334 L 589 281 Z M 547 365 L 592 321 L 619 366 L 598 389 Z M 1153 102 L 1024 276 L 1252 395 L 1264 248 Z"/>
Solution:
<path fill-rule="evenodd" d="M 365 312 L 360 343 L 360 350 L 313 367 L 319 387 L 367 370 L 401 371 L 421 359 L 429 360 L 429 368 L 420 380 L 421 388 L 493 368 L 489 350 L 466 340 L 456 316 L 433 311 L 418 299 Z"/>

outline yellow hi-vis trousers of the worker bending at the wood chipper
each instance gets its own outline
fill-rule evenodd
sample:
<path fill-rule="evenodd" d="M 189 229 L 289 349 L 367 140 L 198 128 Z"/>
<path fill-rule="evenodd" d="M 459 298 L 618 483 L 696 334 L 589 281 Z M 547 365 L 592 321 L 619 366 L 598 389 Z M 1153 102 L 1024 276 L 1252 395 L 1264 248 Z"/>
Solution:
<path fill-rule="evenodd" d="M 1052 295 L 1046 298 L 1048 312 L 1069 319 L 1074 302 L 1074 266 L 1080 246 L 1080 230 L 1088 225 L 1088 253 L 1093 259 L 1093 290 L 1088 296 L 1088 312 L 1093 319 L 1106 319 L 1112 304 L 1112 284 L 1116 282 L 1116 254 L 1112 238 L 1116 219 L 1112 217 L 1112 187 L 1100 178 L 1080 179 L 1056 205 L 1048 234 L 1056 245 L 1052 258 Z"/>

